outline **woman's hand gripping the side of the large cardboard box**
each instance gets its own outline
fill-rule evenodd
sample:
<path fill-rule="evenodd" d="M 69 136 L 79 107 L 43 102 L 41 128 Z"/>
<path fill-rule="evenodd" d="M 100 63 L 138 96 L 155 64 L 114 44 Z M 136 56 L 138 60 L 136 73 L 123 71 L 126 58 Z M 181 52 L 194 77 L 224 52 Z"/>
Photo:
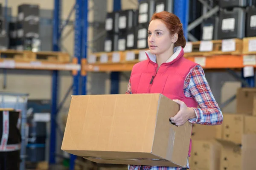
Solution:
<path fill-rule="evenodd" d="M 189 119 L 196 118 L 193 108 L 187 107 L 186 104 L 180 100 L 176 99 L 173 101 L 180 105 L 180 111 L 178 111 L 174 117 L 170 118 L 172 123 L 175 123 L 176 126 L 184 125 Z"/>

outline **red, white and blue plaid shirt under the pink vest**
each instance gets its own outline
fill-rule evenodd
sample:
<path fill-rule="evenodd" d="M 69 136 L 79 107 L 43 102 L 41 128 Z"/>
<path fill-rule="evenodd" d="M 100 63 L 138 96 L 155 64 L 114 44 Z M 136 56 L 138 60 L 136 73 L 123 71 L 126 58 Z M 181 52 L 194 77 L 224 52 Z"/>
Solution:
<path fill-rule="evenodd" d="M 222 123 L 223 115 L 215 101 L 212 91 L 209 87 L 207 79 L 204 75 L 204 70 L 201 66 L 193 68 L 186 77 L 183 91 L 186 97 L 193 97 L 197 102 L 199 108 L 193 108 L 196 114 L 195 119 L 189 119 L 191 123 L 203 125 L 220 125 Z M 126 94 L 131 93 L 131 82 L 128 83 Z M 187 162 L 189 168 L 189 161 Z M 129 170 L 140 170 L 140 166 L 128 165 Z M 156 167 L 143 166 L 143 170 L 180 170 L 180 167 Z"/>

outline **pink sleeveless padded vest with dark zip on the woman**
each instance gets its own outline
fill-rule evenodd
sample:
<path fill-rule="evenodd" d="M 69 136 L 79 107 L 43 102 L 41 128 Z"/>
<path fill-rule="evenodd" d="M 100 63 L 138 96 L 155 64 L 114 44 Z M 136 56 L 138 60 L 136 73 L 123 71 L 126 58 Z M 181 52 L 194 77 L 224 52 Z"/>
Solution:
<path fill-rule="evenodd" d="M 193 99 L 186 97 L 183 92 L 184 82 L 197 64 L 183 57 L 183 48 L 176 59 L 171 62 L 163 63 L 157 71 L 157 63 L 147 60 L 134 65 L 131 71 L 131 92 L 132 94 L 160 93 L 169 99 L 179 99 L 188 107 L 198 107 L 198 103 Z M 191 153 L 190 140 L 189 156 Z"/>

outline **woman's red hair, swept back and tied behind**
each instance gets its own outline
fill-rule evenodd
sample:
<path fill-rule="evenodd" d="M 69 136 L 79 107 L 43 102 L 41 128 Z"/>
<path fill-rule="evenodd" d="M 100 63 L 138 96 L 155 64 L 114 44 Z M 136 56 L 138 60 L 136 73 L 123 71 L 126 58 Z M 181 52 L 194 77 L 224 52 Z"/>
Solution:
<path fill-rule="evenodd" d="M 175 42 L 175 47 L 181 46 L 182 48 L 184 48 L 186 45 L 186 39 L 184 37 L 182 23 L 180 23 L 180 19 L 175 14 L 167 11 L 154 13 L 151 17 L 151 21 L 156 19 L 162 20 L 163 23 L 165 23 L 171 35 L 174 35 L 175 33 L 178 34 L 178 40 Z"/>

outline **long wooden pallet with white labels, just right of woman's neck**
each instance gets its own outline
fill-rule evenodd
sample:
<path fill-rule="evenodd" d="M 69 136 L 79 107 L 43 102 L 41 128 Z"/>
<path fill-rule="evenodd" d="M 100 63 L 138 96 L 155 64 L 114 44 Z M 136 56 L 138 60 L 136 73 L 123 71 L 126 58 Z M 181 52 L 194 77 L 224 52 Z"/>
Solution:
<path fill-rule="evenodd" d="M 197 41 L 189 42 L 192 45 L 191 52 L 186 52 L 184 57 L 192 56 L 212 56 L 212 55 L 240 55 L 243 51 L 243 40 L 230 39 L 230 40 L 211 40 L 211 41 Z M 212 48 L 209 48 L 211 47 Z M 230 48 L 234 45 L 235 48 Z"/>

